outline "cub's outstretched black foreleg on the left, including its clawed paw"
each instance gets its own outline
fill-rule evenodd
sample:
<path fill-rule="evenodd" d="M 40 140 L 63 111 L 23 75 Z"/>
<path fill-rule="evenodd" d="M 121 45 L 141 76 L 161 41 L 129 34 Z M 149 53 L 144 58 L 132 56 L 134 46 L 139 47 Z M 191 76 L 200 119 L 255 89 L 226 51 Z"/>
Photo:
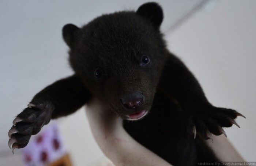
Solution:
<path fill-rule="evenodd" d="M 12 152 L 15 148 L 25 147 L 31 135 L 37 134 L 51 119 L 74 113 L 90 97 L 91 93 L 75 75 L 44 88 L 14 119 L 8 132 Z"/>

